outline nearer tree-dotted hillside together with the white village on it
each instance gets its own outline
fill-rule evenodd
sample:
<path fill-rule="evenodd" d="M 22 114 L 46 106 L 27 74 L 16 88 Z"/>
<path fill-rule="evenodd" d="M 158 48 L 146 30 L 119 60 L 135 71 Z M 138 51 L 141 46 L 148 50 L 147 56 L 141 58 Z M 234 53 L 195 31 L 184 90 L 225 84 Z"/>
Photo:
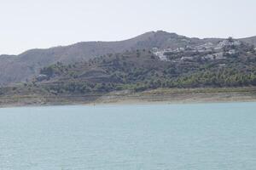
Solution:
<path fill-rule="evenodd" d="M 161 58 L 162 55 L 166 58 Z M 41 75 L 48 79 L 43 84 L 57 83 L 57 88 L 62 86 L 64 91 L 66 85 L 66 88 L 69 85 L 85 88 L 84 92 L 97 91 L 95 87 L 104 92 L 119 88 L 140 91 L 149 88 L 236 87 L 256 85 L 255 65 L 255 49 L 231 39 L 195 48 L 158 49 L 156 52 L 132 50 L 77 65 L 58 63 L 41 70 Z M 40 80 L 36 82 L 41 83 Z"/>

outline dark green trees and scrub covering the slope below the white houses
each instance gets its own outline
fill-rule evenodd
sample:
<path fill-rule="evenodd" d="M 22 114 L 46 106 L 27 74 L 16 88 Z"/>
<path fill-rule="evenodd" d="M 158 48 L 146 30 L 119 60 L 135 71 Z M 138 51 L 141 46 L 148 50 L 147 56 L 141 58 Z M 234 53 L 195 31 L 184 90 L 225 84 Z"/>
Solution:
<path fill-rule="evenodd" d="M 233 39 L 229 39 L 233 41 Z M 236 54 L 229 51 L 236 49 Z M 227 46 L 221 59 L 212 52 L 178 52 L 160 60 L 150 50 L 107 54 L 87 62 L 44 67 L 32 82 L 2 88 L 2 95 L 102 95 L 113 91 L 143 92 L 156 88 L 236 88 L 256 86 L 256 52 L 251 45 Z M 191 57 L 193 59 L 181 59 Z M 7 90 L 6 90 L 7 89 Z"/>

